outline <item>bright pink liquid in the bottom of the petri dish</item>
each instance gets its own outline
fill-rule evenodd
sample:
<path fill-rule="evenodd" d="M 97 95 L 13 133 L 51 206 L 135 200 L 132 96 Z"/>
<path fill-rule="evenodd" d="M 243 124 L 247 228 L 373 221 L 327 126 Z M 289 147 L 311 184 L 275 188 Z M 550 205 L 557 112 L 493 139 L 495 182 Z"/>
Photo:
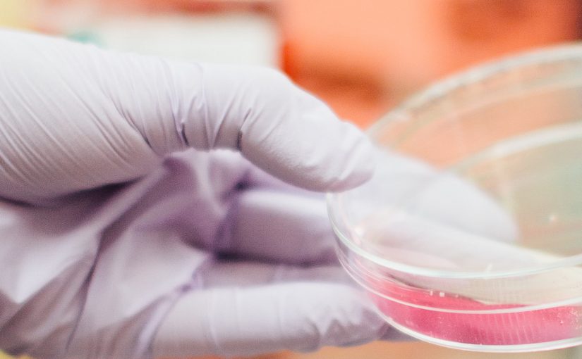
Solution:
<path fill-rule="evenodd" d="M 578 336 L 578 306 L 527 310 L 519 304 L 481 303 L 470 298 L 401 286 L 390 281 L 369 282 L 380 311 L 413 332 L 444 341 L 479 345 L 521 345 Z M 434 309 L 433 309 L 434 308 Z"/>

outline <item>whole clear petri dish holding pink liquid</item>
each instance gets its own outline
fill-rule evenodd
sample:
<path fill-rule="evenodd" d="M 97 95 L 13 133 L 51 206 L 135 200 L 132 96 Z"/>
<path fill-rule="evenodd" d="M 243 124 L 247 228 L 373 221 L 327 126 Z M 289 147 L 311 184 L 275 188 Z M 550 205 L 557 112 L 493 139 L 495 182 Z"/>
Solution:
<path fill-rule="evenodd" d="M 375 176 L 328 195 L 339 258 L 401 331 L 582 344 L 582 46 L 468 70 L 373 125 Z"/>

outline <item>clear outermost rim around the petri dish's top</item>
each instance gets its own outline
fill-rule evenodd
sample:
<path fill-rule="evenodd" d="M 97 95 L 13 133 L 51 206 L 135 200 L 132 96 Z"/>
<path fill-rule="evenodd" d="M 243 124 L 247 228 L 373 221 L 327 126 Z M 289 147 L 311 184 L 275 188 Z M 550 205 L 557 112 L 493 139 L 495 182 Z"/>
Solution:
<path fill-rule="evenodd" d="M 444 96 L 452 91 L 461 89 L 462 87 L 471 84 L 478 84 L 484 80 L 490 79 L 499 75 L 507 75 L 511 70 L 519 70 L 520 68 L 528 68 L 531 66 L 540 65 L 558 65 L 561 63 L 569 63 L 576 61 L 578 65 L 582 66 L 582 43 L 575 42 L 571 44 L 562 44 L 559 46 L 551 46 L 544 49 L 529 51 L 518 56 L 507 56 L 497 61 L 485 63 L 483 65 L 471 68 L 470 70 L 451 75 L 435 82 L 435 84 L 423 89 L 417 94 L 411 96 L 407 101 L 404 101 L 400 106 L 396 106 L 392 111 L 387 113 L 383 118 L 375 122 L 366 133 L 373 140 L 375 134 L 379 129 L 385 127 L 391 122 L 405 121 L 410 118 L 411 111 L 427 106 L 430 103 L 443 99 Z M 365 251 L 363 248 L 354 243 L 351 238 L 344 233 L 339 227 L 339 220 L 337 215 L 341 213 L 341 192 L 327 194 L 327 212 L 329 220 L 332 224 L 338 239 L 344 243 L 351 251 L 356 252 L 363 258 L 370 260 L 372 263 L 386 267 L 387 269 L 405 272 L 413 275 L 423 275 L 425 277 L 438 278 L 456 278 L 456 279 L 494 279 L 502 277 L 521 277 L 526 275 L 533 275 L 539 272 L 554 270 L 560 267 L 569 267 L 582 265 L 582 253 L 567 256 L 555 260 L 551 263 L 543 265 L 535 265 L 532 267 L 523 267 L 516 270 L 499 270 L 491 272 L 476 272 L 476 271 L 461 271 L 461 270 L 435 270 L 428 267 L 420 267 L 416 265 L 408 265 L 398 263 L 393 260 L 381 258 L 374 253 Z"/>

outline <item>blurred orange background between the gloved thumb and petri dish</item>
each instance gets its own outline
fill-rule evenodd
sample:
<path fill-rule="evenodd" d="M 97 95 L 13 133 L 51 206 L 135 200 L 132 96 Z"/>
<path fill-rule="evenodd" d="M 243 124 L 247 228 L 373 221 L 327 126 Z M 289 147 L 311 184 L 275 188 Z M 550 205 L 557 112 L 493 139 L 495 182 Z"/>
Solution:
<path fill-rule="evenodd" d="M 284 69 L 345 118 L 368 125 L 439 77 L 571 41 L 579 1 L 281 1 Z"/>

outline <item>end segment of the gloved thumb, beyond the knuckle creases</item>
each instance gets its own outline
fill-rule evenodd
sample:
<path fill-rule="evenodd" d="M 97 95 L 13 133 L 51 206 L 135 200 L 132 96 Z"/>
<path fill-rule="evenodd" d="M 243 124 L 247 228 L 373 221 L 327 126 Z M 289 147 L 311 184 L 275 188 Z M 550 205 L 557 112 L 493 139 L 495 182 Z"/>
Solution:
<path fill-rule="evenodd" d="M 269 95 L 269 103 L 277 106 L 253 112 L 256 116 L 242 127 L 239 149 L 246 158 L 285 182 L 313 191 L 344 191 L 372 177 L 375 151 L 356 125 L 340 120 L 301 89 L 287 86 L 279 92 Z"/>

